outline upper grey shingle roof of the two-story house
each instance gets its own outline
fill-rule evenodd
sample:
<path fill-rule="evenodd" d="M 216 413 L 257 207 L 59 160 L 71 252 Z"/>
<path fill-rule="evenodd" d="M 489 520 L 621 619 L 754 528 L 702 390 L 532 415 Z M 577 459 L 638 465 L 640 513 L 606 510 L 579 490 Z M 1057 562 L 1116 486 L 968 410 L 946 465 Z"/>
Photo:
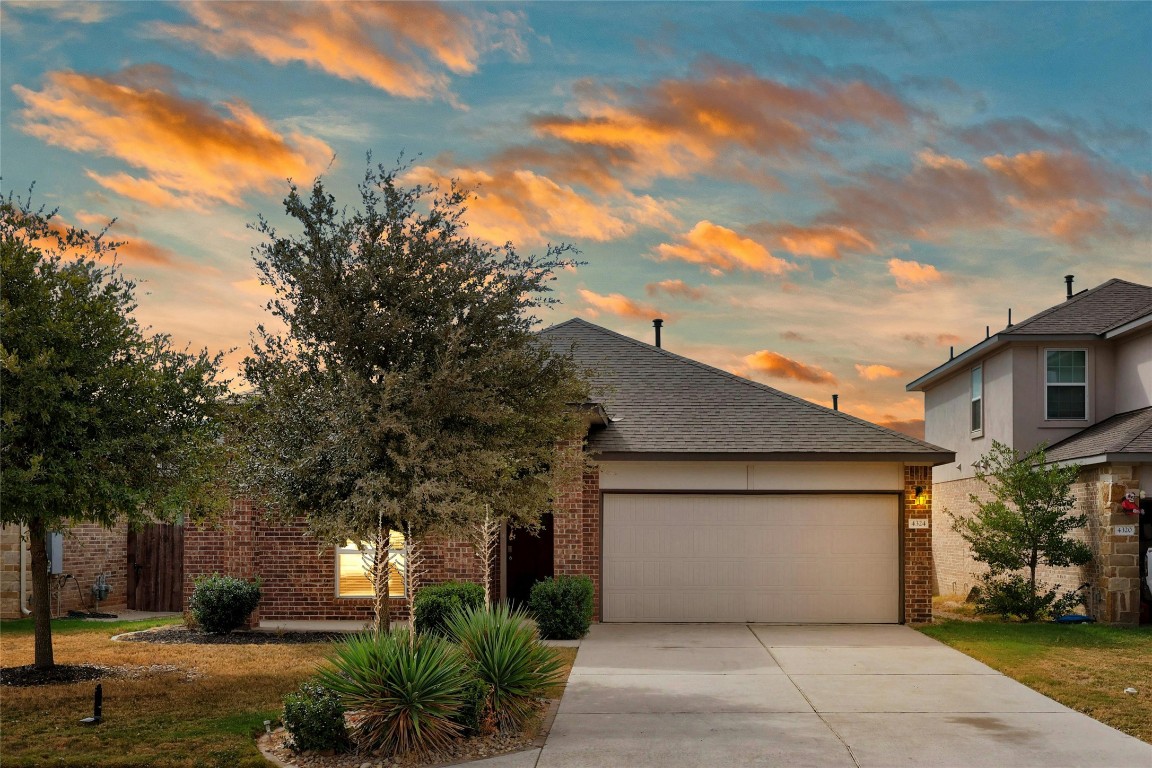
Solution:
<path fill-rule="evenodd" d="M 1152 314 L 1152 287 L 1112 279 L 1006 328 L 1010 334 L 1105 334 Z"/>

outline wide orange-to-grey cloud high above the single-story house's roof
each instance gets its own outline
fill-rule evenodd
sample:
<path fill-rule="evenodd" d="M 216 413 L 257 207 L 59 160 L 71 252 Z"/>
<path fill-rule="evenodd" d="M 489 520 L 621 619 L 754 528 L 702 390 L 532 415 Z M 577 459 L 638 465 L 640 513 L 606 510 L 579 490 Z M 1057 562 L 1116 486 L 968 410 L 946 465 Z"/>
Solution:
<path fill-rule="evenodd" d="M 613 89 L 590 81 L 576 89 L 579 113 L 541 115 L 538 135 L 568 146 L 594 147 L 589 158 L 605 175 L 631 182 L 698 172 L 748 173 L 734 152 L 791 158 L 836 139 L 841 127 L 905 124 L 912 111 L 862 81 L 786 85 L 728 64 L 708 64 L 691 78 Z"/>

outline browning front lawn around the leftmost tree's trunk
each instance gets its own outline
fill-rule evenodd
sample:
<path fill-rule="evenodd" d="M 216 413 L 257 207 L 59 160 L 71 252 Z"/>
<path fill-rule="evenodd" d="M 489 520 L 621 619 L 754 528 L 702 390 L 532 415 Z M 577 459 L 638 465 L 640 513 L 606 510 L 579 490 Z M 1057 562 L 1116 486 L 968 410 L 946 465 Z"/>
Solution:
<path fill-rule="evenodd" d="M 32 662 L 28 622 L 0 629 L 5 667 Z M 5 687 L 0 753 L 9 766 L 259 767 L 270 763 L 252 743 L 281 699 L 309 677 L 329 644 L 202 646 L 113 642 L 119 632 L 157 622 L 55 622 L 58 664 L 135 669 L 108 677 L 104 723 L 92 714 L 96 683 Z M 157 666 L 162 667 L 156 670 Z"/>

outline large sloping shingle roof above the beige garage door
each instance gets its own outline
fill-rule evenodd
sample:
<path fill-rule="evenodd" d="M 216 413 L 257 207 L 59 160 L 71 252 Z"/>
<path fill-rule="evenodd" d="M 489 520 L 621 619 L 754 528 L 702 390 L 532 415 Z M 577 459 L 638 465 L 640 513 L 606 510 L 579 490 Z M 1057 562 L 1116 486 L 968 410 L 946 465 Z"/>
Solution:
<path fill-rule="evenodd" d="M 954 454 L 749 381 L 666 349 L 573 319 L 541 332 L 594 371 L 612 421 L 590 448 L 615 454 L 772 455 L 942 463 Z"/>

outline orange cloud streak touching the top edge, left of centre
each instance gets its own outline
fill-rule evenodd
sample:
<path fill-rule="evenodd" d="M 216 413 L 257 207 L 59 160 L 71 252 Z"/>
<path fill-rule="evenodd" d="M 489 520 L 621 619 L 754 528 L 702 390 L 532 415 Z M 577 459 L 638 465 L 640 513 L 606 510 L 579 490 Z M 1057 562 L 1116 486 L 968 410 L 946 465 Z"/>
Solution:
<path fill-rule="evenodd" d="M 302 62 L 392 96 L 452 99 L 447 69 L 476 71 L 482 50 L 523 48 L 523 17 L 465 15 L 432 2 L 194 2 L 198 24 L 157 29 L 218 56 Z"/>

